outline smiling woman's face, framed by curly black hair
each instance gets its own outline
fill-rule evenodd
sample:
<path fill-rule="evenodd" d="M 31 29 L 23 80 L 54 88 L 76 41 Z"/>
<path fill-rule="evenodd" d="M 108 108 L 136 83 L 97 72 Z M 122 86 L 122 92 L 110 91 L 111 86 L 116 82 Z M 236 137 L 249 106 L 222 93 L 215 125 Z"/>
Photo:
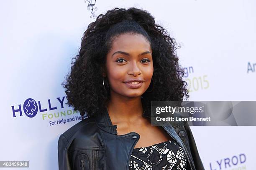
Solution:
<path fill-rule="evenodd" d="M 108 52 L 106 68 L 111 95 L 141 96 L 154 72 L 148 40 L 140 34 L 119 35 Z"/>

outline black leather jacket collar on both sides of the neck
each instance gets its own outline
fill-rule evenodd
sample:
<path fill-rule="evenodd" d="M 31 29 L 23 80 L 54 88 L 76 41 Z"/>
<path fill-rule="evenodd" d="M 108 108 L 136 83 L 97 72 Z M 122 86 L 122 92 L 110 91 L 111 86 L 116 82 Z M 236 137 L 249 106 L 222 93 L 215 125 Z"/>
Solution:
<path fill-rule="evenodd" d="M 143 107 L 143 117 L 147 117 L 150 118 L 150 116 L 146 115 L 146 110 Z M 97 126 L 99 128 L 101 128 L 102 130 L 111 133 L 111 134 L 115 134 L 117 135 L 117 125 L 113 125 L 111 120 L 110 120 L 110 116 L 108 114 L 108 109 L 107 107 L 104 107 L 104 111 L 102 114 L 97 115 L 95 117 L 95 122 L 97 124 Z"/>

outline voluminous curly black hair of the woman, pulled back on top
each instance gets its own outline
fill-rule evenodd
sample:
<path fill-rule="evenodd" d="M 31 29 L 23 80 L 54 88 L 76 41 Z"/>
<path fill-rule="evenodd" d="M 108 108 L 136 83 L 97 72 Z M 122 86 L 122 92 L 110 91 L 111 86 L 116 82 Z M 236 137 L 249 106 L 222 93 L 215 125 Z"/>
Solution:
<path fill-rule="evenodd" d="M 151 45 L 154 65 L 152 87 L 150 85 L 150 90 L 141 97 L 143 108 L 148 113 L 151 101 L 183 101 L 184 97 L 189 97 L 187 82 L 182 81 L 184 72 L 178 63 L 175 39 L 157 25 L 146 10 L 116 7 L 88 25 L 79 54 L 72 58 L 71 71 L 61 84 L 66 89 L 68 104 L 83 117 L 102 113 L 110 99 L 109 88 L 102 84 L 102 71 L 112 41 L 123 33 L 141 34 Z"/>

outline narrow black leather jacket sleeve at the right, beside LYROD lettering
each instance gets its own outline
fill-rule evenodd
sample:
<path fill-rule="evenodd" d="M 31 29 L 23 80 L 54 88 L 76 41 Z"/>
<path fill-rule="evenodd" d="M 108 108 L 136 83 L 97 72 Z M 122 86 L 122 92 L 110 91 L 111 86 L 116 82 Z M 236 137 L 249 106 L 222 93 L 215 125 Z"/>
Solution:
<path fill-rule="evenodd" d="M 196 168 L 196 170 L 204 170 L 205 168 L 204 168 L 204 166 L 202 164 L 202 160 L 199 156 L 199 153 L 198 153 L 198 150 L 197 150 L 197 145 L 195 143 L 195 139 L 192 135 L 191 129 L 189 128 L 188 124 L 185 124 L 184 128 L 185 128 L 187 136 L 189 138 L 189 148 L 190 148 L 190 151 L 192 153 L 192 157 L 193 157 L 193 160 L 194 160 L 194 163 L 195 163 L 195 168 Z"/>

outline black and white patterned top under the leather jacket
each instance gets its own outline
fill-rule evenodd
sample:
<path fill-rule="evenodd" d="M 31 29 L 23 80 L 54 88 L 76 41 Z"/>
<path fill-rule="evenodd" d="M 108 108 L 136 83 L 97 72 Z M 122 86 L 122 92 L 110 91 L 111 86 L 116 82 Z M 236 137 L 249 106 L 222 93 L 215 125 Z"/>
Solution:
<path fill-rule="evenodd" d="M 134 148 L 129 170 L 188 170 L 187 159 L 175 140 Z"/>

